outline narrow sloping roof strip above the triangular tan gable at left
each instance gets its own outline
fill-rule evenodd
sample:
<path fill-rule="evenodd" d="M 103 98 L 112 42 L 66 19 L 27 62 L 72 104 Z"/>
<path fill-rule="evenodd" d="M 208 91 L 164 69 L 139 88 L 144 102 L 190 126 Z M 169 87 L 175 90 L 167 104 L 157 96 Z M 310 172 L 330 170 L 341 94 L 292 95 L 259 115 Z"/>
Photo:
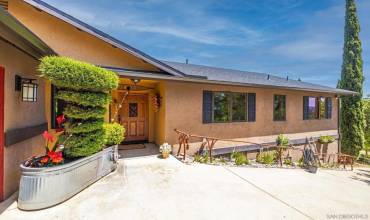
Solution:
<path fill-rule="evenodd" d="M 153 66 L 163 70 L 163 71 L 166 71 L 167 73 L 171 74 L 171 75 L 174 75 L 174 76 L 178 76 L 178 77 L 183 77 L 185 76 L 184 73 L 182 73 L 181 71 L 177 70 L 177 69 L 174 69 L 164 63 L 162 63 L 161 61 L 157 60 L 157 59 L 154 59 L 153 57 L 145 54 L 144 52 L 136 49 L 136 48 L 133 48 L 131 47 L 130 45 L 78 20 L 77 18 L 69 15 L 69 14 L 66 14 L 64 13 L 63 11 L 60 11 L 59 9 L 57 8 L 54 8 L 53 6 L 47 4 L 46 2 L 43 2 L 41 0 L 23 0 L 24 2 L 32 5 L 33 7 L 37 8 L 37 9 L 40 9 L 56 18 L 59 18 L 60 20 L 64 21 L 64 22 L 67 22 L 68 24 L 70 25 L 73 25 L 74 27 L 86 32 L 86 33 L 89 33 L 127 53 L 130 53 L 140 59 L 143 59 L 145 60 L 146 62 L 152 64 Z"/>

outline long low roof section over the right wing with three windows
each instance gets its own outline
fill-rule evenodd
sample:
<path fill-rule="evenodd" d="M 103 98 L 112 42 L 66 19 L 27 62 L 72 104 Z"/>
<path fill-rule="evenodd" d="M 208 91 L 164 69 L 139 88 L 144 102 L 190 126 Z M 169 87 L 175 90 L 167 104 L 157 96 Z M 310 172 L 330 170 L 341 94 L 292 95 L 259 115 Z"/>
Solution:
<path fill-rule="evenodd" d="M 203 65 L 194 65 L 170 61 L 162 61 L 175 69 L 180 70 L 191 77 L 204 77 L 214 82 L 240 83 L 251 86 L 274 87 L 281 89 L 305 90 L 316 92 L 328 92 L 343 95 L 354 95 L 356 92 L 321 86 L 298 80 L 287 80 L 286 78 L 273 76 L 266 73 L 256 73 L 225 68 L 216 68 Z"/>

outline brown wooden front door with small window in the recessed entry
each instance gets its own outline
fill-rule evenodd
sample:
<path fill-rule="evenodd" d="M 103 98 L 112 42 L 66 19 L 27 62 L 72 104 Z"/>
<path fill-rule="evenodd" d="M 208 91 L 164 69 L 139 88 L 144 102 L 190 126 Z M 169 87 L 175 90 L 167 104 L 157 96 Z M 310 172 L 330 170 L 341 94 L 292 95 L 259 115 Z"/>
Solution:
<path fill-rule="evenodd" d="M 126 129 L 125 142 L 148 140 L 148 96 L 146 94 L 128 95 L 122 104 L 119 118 Z"/>

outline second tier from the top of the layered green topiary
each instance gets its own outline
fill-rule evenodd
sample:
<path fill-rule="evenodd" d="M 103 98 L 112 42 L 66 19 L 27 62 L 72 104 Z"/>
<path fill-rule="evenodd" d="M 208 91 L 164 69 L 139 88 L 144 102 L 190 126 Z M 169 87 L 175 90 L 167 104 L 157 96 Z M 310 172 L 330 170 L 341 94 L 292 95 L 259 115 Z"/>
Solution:
<path fill-rule="evenodd" d="M 60 90 L 57 92 L 55 97 L 66 102 L 73 102 L 82 106 L 104 107 L 112 100 L 111 96 L 105 92 L 75 92 Z"/>

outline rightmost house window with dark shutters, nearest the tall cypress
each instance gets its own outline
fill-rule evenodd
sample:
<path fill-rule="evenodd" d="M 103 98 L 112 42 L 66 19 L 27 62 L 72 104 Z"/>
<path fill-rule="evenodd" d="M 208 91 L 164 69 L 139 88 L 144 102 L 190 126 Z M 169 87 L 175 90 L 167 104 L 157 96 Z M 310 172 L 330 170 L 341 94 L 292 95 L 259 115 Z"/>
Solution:
<path fill-rule="evenodd" d="M 331 119 L 332 100 L 330 97 L 303 97 L 303 119 Z"/>

